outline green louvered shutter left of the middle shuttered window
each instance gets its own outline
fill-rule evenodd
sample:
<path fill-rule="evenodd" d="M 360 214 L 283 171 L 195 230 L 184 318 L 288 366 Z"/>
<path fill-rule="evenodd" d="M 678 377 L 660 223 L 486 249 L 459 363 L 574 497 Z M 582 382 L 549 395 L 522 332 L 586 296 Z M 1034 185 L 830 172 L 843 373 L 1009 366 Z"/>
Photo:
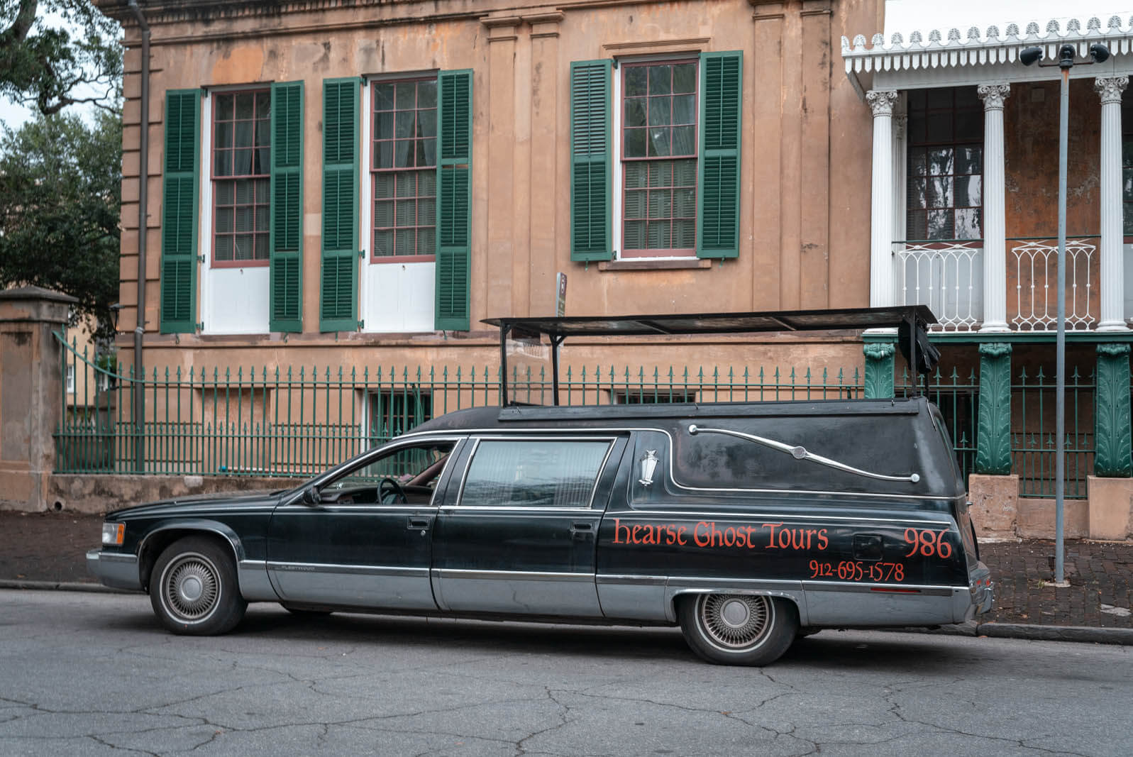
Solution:
<path fill-rule="evenodd" d="M 358 77 L 323 79 L 320 331 L 358 329 Z"/>

